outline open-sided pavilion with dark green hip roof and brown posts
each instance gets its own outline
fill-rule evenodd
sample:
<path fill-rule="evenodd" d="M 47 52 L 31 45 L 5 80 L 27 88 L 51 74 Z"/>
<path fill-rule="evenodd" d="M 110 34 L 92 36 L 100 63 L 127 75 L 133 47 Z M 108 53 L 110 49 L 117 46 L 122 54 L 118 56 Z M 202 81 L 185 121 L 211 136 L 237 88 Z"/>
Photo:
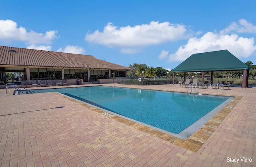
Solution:
<path fill-rule="evenodd" d="M 204 72 L 211 72 L 211 81 L 213 72 L 219 71 L 240 71 L 243 70 L 242 88 L 248 87 L 248 78 L 250 68 L 241 62 L 236 56 L 228 50 L 219 50 L 214 52 L 205 52 L 192 54 L 184 62 L 172 70 L 173 84 L 175 72 L 202 72 L 202 83 L 204 82 Z"/>

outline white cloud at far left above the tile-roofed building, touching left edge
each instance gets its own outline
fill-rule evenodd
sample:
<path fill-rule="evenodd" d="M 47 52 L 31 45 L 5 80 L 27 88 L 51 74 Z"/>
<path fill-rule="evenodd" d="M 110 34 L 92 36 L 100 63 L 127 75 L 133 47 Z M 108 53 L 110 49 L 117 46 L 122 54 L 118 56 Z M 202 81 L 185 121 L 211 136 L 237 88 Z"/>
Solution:
<path fill-rule="evenodd" d="M 45 34 L 32 30 L 27 32 L 24 27 L 17 27 L 17 23 L 12 20 L 0 20 L 0 40 L 22 41 L 27 44 L 51 44 L 56 38 L 58 31 L 50 30 Z"/>

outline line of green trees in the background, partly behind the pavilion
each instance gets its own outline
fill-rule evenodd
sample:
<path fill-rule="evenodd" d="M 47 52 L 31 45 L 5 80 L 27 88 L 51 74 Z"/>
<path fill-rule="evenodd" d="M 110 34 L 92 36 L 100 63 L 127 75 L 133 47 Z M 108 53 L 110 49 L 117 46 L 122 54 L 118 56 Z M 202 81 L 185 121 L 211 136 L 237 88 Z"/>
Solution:
<path fill-rule="evenodd" d="M 245 62 L 248 67 L 250 67 L 249 76 L 251 78 L 256 77 L 256 65 L 254 65 L 251 61 Z M 129 68 L 132 68 L 134 70 L 128 71 L 127 76 L 129 77 L 136 77 L 136 76 L 146 76 L 146 77 L 172 77 L 173 72 L 166 70 L 162 67 L 153 68 L 152 66 L 149 67 L 146 64 L 137 64 L 134 63 L 132 65 L 129 65 Z M 144 74 L 142 74 L 142 71 Z M 177 76 L 182 78 L 184 76 L 184 72 L 178 72 Z M 186 76 L 188 77 L 194 77 L 194 76 L 200 76 L 202 75 L 202 72 L 190 72 L 186 73 Z M 211 72 L 204 72 L 204 75 L 211 75 Z M 226 78 L 226 77 L 232 77 L 232 78 L 240 78 L 243 75 L 243 71 L 222 71 L 222 72 L 214 72 L 215 78 Z"/>

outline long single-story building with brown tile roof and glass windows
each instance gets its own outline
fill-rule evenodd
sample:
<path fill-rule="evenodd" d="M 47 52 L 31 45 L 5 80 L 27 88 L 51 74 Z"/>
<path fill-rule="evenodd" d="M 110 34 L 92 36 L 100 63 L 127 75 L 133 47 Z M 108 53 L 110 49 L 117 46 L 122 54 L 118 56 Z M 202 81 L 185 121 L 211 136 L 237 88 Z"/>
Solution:
<path fill-rule="evenodd" d="M 110 78 L 125 77 L 128 70 L 133 69 L 89 55 L 0 46 L 0 81 L 5 83 L 7 72 L 22 74 L 14 76 L 17 82 L 67 80 L 72 85 L 80 78 L 81 83 L 112 83 Z"/>

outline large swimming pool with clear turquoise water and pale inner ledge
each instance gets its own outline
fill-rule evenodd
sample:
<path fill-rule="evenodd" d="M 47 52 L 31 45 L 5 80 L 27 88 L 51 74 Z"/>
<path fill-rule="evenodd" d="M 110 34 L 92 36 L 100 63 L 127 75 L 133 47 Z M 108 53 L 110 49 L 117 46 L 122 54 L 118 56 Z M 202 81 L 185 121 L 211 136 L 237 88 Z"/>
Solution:
<path fill-rule="evenodd" d="M 32 91 L 56 91 L 182 139 L 189 137 L 232 100 L 232 97 L 107 86 Z"/>

